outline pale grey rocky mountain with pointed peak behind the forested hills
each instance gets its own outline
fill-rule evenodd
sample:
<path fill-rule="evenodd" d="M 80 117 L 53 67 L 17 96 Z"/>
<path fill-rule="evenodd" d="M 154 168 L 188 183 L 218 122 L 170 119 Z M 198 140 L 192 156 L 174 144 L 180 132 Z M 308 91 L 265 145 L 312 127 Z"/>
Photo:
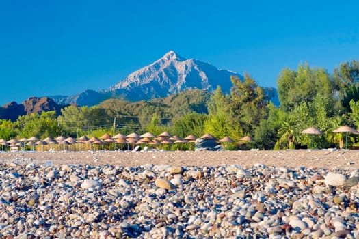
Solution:
<path fill-rule="evenodd" d="M 190 89 L 204 89 L 211 92 L 217 88 L 217 85 L 220 85 L 223 92 L 229 93 L 232 87 L 230 76 L 243 79 L 235 72 L 218 70 L 211 64 L 196 59 L 185 59 L 174 51 L 169 51 L 161 59 L 129 74 L 109 89 L 86 90 L 75 96 L 50 97 L 58 104 L 92 106 L 109 98 L 134 102 L 166 97 Z M 276 96 L 273 89 L 269 89 L 267 94 Z"/>

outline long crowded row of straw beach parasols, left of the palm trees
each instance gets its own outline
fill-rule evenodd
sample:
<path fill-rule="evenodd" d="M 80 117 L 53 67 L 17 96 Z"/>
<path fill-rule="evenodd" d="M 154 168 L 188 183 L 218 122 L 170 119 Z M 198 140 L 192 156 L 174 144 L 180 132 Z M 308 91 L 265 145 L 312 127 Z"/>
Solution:
<path fill-rule="evenodd" d="M 88 139 L 85 135 L 82 137 L 79 137 L 79 139 L 74 139 L 73 137 L 63 137 L 59 136 L 55 139 L 51 137 L 46 137 L 46 139 L 40 140 L 37 137 L 31 137 L 29 139 L 23 138 L 23 139 L 10 139 L 9 141 L 5 141 L 4 139 L 0 139 L 0 145 L 3 146 L 3 150 L 6 149 L 6 147 L 10 146 L 11 148 L 14 147 L 20 147 L 24 150 L 25 145 L 31 147 L 32 150 L 34 150 L 34 147 L 36 145 L 64 145 L 64 149 L 66 148 L 66 145 L 74 145 L 75 143 L 80 144 L 89 144 L 89 145 L 103 145 L 103 144 L 110 144 L 110 143 L 117 143 L 117 144 L 127 144 L 127 145 L 169 145 L 172 143 L 194 143 L 196 141 L 197 137 L 194 135 L 188 135 L 185 138 L 178 137 L 176 135 L 172 136 L 169 132 L 163 132 L 160 135 L 153 135 L 151 132 L 146 132 L 143 135 L 137 135 L 137 133 L 133 132 L 130 135 L 122 135 L 121 133 L 114 135 L 113 137 L 106 133 L 105 135 L 102 135 L 101 137 L 91 137 Z M 205 134 L 200 137 L 200 139 L 215 139 L 217 140 L 213 135 L 211 134 Z M 249 142 L 252 141 L 252 138 L 249 136 L 243 137 L 240 139 L 241 142 Z M 230 139 L 230 137 L 226 136 L 220 140 L 218 140 L 220 143 L 233 143 L 234 140 Z"/>

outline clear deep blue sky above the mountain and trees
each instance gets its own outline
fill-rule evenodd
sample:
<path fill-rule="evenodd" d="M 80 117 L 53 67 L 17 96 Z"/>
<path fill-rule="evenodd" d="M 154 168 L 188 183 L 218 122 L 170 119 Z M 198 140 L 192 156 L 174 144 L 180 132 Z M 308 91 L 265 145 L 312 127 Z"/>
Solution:
<path fill-rule="evenodd" d="M 276 87 L 359 59 L 357 1 L 0 0 L 0 105 L 106 89 L 173 50 Z"/>

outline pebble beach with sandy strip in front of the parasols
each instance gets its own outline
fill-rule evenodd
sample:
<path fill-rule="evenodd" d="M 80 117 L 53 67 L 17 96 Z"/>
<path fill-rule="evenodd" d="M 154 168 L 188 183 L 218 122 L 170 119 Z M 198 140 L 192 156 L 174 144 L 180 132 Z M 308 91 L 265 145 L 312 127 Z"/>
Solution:
<path fill-rule="evenodd" d="M 359 238 L 359 151 L 0 152 L 1 238 Z"/>

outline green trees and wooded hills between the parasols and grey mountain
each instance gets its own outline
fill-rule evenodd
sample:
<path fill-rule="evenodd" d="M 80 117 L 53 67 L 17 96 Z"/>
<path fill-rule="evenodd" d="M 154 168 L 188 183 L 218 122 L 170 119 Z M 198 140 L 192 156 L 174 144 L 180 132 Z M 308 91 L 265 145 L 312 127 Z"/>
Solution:
<path fill-rule="evenodd" d="M 127 102 L 111 99 L 96 107 L 69 106 L 57 117 L 55 111 L 23 115 L 15 122 L 0 119 L 0 139 L 23 137 L 88 137 L 121 132 L 200 137 L 204 133 L 236 142 L 245 135 L 254 139 L 249 147 L 261 150 L 312 147 L 312 135 L 301 131 L 314 126 L 315 148 L 345 147 L 340 126 L 359 128 L 359 62 L 347 61 L 328 70 L 300 64 L 284 68 L 278 76 L 280 106 L 265 96 L 250 74 L 231 77 L 232 89 L 224 94 L 193 90 L 150 101 Z M 348 145 L 359 145 L 359 136 L 347 135 Z M 237 149 L 238 143 L 230 148 Z"/>

